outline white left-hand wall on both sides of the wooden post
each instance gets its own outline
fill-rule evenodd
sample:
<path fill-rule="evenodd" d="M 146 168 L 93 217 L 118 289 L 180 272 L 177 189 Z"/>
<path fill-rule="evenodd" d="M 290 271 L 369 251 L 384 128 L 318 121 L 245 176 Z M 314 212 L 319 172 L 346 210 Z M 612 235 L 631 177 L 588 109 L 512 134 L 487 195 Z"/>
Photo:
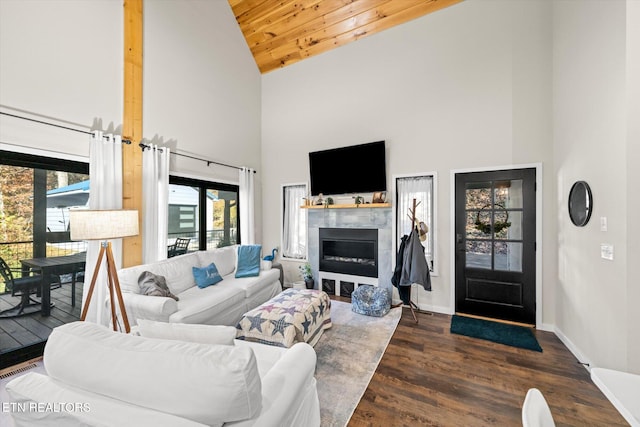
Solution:
<path fill-rule="evenodd" d="M 145 140 L 258 169 L 259 241 L 260 73 L 231 7 L 226 1 L 148 0 L 143 31 Z M 2 111 L 120 133 L 123 37 L 119 1 L 0 1 Z M 39 154 L 83 159 L 89 155 L 88 140 L 88 135 L 0 116 L 0 149 L 35 148 Z M 238 182 L 236 169 L 172 157 L 172 173 Z"/>

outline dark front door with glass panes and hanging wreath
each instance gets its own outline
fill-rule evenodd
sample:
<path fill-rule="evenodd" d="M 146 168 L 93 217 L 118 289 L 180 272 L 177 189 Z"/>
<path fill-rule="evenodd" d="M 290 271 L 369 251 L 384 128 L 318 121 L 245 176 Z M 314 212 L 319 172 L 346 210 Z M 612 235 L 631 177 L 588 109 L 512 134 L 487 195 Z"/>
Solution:
<path fill-rule="evenodd" d="M 535 183 L 535 169 L 456 174 L 456 312 L 535 324 Z"/>

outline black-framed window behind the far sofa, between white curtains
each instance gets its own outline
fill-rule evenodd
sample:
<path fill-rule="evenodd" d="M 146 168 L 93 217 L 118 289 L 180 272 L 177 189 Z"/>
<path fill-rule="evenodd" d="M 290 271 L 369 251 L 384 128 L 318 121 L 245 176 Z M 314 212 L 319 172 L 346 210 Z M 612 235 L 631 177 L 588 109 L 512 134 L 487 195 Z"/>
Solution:
<path fill-rule="evenodd" d="M 169 177 L 168 242 L 189 238 L 189 251 L 239 243 L 238 192 L 237 185 Z"/>

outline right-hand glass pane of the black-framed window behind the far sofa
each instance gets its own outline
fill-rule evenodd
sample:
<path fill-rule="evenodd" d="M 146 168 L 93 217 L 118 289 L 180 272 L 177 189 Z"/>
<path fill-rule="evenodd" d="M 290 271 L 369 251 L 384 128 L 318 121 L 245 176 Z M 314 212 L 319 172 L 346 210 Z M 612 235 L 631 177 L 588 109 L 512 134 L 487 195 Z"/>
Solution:
<path fill-rule="evenodd" d="M 236 243 L 238 193 L 207 189 L 207 249 Z"/>

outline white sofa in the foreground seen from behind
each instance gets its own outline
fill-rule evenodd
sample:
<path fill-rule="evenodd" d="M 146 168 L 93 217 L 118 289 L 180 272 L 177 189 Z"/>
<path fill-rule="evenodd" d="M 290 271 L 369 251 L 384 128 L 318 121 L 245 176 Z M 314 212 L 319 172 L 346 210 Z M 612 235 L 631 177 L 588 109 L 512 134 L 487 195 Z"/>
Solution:
<path fill-rule="evenodd" d="M 27 373 L 6 386 L 16 427 L 320 425 L 308 344 L 171 338 L 89 322 L 55 328 L 45 346 L 47 375 Z"/>

